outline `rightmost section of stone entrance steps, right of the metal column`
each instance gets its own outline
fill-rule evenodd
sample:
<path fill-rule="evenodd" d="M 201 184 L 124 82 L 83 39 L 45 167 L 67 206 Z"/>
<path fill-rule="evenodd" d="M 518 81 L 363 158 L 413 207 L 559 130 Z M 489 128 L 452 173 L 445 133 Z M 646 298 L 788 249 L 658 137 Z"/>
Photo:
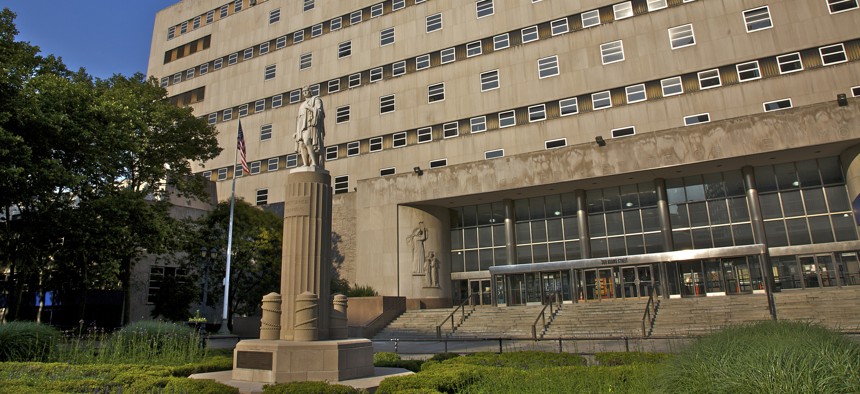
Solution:
<path fill-rule="evenodd" d="M 837 331 L 860 331 L 860 286 L 783 290 L 774 293 L 776 317 L 821 324 Z"/>

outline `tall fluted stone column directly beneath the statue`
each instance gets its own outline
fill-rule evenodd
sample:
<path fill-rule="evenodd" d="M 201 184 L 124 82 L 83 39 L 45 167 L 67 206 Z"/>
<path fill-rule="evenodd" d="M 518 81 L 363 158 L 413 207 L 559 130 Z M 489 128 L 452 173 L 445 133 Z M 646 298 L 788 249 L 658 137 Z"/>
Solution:
<path fill-rule="evenodd" d="M 331 176 L 328 171 L 298 168 L 287 178 L 284 197 L 284 243 L 281 265 L 281 339 L 295 338 L 296 298 L 317 295 L 319 339 L 328 339 L 331 260 Z"/>

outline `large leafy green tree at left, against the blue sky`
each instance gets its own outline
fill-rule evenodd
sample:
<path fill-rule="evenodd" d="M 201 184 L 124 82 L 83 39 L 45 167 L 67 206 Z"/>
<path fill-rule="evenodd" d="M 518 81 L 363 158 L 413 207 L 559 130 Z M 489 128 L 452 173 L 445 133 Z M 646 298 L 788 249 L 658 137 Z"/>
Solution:
<path fill-rule="evenodd" d="M 70 71 L 15 41 L 14 17 L 0 11 L 0 271 L 13 275 L 11 318 L 27 283 L 128 290 L 142 253 L 179 247 L 168 197 L 205 187 L 190 162 L 220 152 L 215 129 L 154 79 Z"/>

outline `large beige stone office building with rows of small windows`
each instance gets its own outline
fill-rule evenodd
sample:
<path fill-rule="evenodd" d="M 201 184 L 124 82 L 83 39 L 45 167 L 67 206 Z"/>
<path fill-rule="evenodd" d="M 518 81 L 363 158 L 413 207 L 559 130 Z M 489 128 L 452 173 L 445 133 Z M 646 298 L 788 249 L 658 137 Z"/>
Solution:
<path fill-rule="evenodd" d="M 381 295 L 814 291 L 860 282 L 858 26 L 857 0 L 184 0 L 149 74 L 220 132 L 194 171 L 257 205 L 319 95 L 337 264 Z"/>

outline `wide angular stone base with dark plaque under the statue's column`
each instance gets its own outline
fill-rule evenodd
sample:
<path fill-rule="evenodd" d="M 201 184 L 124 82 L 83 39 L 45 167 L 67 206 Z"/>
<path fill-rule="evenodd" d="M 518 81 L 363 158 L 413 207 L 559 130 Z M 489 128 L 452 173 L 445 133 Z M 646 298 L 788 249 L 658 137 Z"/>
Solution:
<path fill-rule="evenodd" d="M 241 341 L 233 351 L 233 380 L 263 383 L 339 382 L 373 376 L 373 344 L 338 341 Z"/>

